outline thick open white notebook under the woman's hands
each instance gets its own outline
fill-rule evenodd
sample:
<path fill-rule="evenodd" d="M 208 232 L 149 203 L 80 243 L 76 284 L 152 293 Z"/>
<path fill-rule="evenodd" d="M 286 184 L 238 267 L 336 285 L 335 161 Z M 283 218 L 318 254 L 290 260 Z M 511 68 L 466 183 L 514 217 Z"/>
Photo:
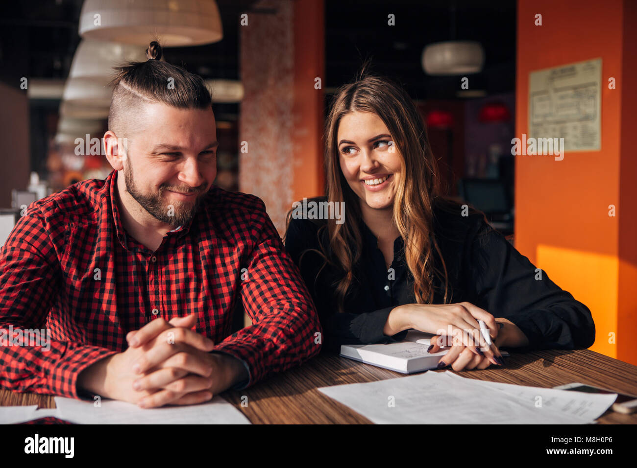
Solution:
<path fill-rule="evenodd" d="M 409 330 L 404 341 L 399 343 L 343 344 L 341 356 L 402 374 L 438 369 L 438 361 L 449 349 L 427 353 L 433 336 L 418 330 Z M 503 356 L 508 356 L 506 351 L 500 352 Z"/>

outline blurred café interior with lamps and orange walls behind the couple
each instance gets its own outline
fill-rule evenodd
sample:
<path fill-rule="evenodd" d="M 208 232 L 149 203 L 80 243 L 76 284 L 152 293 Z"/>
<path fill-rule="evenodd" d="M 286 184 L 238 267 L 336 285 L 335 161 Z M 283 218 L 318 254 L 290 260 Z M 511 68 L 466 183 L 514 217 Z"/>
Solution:
<path fill-rule="evenodd" d="M 324 193 L 330 98 L 370 59 L 417 104 L 448 193 L 589 306 L 592 350 L 637 364 L 634 1 L 25 0 L 0 24 L 0 245 L 20 207 L 108 176 L 111 67 L 155 34 L 213 92 L 215 183 L 261 197 L 281 234 Z M 536 99 L 531 74 L 575 80 L 579 62 L 598 79 Z M 513 156 L 548 120 L 564 159 Z"/>

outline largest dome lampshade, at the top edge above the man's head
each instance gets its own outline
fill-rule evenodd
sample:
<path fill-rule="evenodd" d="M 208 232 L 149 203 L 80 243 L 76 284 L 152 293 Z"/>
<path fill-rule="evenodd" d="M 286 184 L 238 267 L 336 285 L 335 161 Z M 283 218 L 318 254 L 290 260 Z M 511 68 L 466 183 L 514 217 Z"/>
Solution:
<path fill-rule="evenodd" d="M 214 0 L 85 0 L 80 36 L 148 46 L 210 44 L 223 37 Z"/>

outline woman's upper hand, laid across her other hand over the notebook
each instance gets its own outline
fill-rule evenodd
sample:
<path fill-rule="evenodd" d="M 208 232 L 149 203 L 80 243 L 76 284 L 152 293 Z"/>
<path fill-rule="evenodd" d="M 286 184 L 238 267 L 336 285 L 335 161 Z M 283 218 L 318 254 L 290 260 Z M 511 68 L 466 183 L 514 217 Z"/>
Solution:
<path fill-rule="evenodd" d="M 491 340 L 496 339 L 498 327 L 494 316 L 470 302 L 397 306 L 389 314 L 384 331 L 385 335 L 392 336 L 402 330 L 416 329 L 452 338 L 454 345 L 468 348 L 476 358 L 486 356 L 493 364 L 498 364 L 494 350 L 490 349 L 480 333 L 478 320 L 482 320 L 489 328 Z"/>

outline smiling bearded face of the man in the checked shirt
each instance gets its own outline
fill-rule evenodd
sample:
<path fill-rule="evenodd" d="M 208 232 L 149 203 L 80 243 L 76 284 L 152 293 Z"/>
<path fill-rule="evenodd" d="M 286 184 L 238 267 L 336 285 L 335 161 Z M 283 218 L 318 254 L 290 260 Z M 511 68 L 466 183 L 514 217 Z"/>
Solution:
<path fill-rule="evenodd" d="M 145 129 L 129 142 L 124 161 L 126 190 L 176 228 L 195 215 L 217 176 L 215 116 L 212 109 L 144 108 Z"/>

